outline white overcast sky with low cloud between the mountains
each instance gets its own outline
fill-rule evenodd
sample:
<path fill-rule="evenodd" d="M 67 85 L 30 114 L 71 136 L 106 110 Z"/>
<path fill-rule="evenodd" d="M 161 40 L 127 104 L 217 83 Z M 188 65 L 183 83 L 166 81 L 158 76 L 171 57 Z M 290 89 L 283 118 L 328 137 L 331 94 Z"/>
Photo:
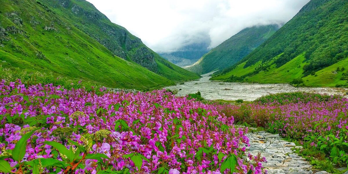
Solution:
<path fill-rule="evenodd" d="M 87 0 L 158 53 L 289 21 L 309 0 Z"/>

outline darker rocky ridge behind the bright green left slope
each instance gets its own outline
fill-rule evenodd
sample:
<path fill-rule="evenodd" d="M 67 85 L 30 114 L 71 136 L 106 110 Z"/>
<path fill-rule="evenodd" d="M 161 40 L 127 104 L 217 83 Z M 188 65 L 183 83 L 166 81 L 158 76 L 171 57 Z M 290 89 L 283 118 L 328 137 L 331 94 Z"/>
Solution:
<path fill-rule="evenodd" d="M 129 33 L 124 27 L 112 23 L 85 0 L 40 0 L 40 2 L 121 58 L 132 60 L 170 80 L 199 78 L 196 73 L 181 69 L 160 57 L 145 46 L 139 38 Z M 167 68 L 160 68 L 162 65 L 157 64 L 159 61 L 165 62 Z"/>

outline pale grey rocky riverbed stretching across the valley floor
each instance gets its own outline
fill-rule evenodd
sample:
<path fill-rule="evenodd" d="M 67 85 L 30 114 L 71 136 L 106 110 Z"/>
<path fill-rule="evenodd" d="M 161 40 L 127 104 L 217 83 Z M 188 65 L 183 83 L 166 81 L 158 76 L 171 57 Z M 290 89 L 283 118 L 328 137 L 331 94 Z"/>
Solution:
<path fill-rule="evenodd" d="M 295 88 L 289 84 L 249 84 L 237 82 L 217 82 L 210 81 L 210 75 L 204 74 L 197 81 L 185 82 L 183 85 L 169 86 L 167 89 L 178 90 L 178 96 L 197 93 L 200 91 L 203 98 L 208 100 L 238 100 L 254 101 L 264 95 L 284 93 L 284 92 L 314 92 L 320 94 L 340 94 L 346 95 L 348 92 L 345 88 Z"/>

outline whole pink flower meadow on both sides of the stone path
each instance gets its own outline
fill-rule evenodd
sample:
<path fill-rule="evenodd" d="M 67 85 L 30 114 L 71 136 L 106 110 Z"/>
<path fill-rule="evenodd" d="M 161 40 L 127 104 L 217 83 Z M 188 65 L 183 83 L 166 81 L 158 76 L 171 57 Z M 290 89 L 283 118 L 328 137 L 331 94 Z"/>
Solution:
<path fill-rule="evenodd" d="M 348 99 L 283 93 L 254 102 L 0 83 L 3 173 L 267 173 L 247 127 L 279 133 L 331 173 L 348 163 Z M 236 125 L 245 125 L 240 127 Z"/>

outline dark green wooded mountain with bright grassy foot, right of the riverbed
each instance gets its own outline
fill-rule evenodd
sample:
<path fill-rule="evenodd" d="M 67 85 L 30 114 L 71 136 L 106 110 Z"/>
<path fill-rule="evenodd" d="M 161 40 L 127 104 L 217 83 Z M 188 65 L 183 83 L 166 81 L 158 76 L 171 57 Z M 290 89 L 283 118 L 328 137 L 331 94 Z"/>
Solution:
<path fill-rule="evenodd" d="M 212 80 L 347 86 L 348 0 L 311 0 L 236 65 Z"/>

